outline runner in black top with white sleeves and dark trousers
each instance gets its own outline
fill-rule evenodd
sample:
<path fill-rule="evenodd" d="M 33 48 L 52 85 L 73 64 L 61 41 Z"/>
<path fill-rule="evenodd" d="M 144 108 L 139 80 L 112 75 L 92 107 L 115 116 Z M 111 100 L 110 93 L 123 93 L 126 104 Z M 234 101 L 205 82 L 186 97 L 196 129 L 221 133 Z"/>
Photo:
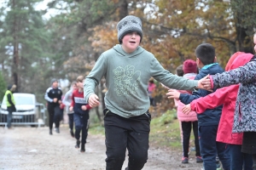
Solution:
<path fill-rule="evenodd" d="M 49 134 L 52 135 L 52 127 L 54 123 L 55 114 L 61 114 L 61 88 L 58 87 L 59 82 L 57 79 L 51 81 L 51 87 L 47 88 L 44 94 L 44 99 L 47 101 L 47 110 L 49 114 Z M 56 133 L 60 133 L 60 120 L 55 119 Z"/>

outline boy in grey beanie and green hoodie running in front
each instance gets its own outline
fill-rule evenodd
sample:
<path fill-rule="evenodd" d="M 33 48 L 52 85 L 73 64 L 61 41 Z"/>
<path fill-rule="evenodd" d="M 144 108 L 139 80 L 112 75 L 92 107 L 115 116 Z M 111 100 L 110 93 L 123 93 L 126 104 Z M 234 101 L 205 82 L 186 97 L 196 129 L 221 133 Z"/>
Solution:
<path fill-rule="evenodd" d="M 143 38 L 142 21 L 132 15 L 117 25 L 118 45 L 104 52 L 96 61 L 84 82 L 84 98 L 91 107 L 100 105 L 94 93 L 102 77 L 108 92 L 104 110 L 106 170 L 120 170 L 128 150 L 127 170 L 140 170 L 148 160 L 150 106 L 148 80 L 150 77 L 168 88 L 192 90 L 201 88 L 201 81 L 192 81 L 166 71 L 154 54 L 139 44 Z"/>

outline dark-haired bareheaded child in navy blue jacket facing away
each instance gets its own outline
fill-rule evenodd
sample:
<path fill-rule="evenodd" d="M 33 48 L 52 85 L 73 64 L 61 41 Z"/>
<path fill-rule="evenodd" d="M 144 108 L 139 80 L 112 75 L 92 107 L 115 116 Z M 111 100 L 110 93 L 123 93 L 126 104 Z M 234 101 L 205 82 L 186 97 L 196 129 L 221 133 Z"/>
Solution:
<path fill-rule="evenodd" d="M 215 63 L 215 49 L 209 43 L 202 43 L 195 49 L 196 63 L 199 67 L 199 74 L 195 80 L 200 80 L 208 74 L 214 75 L 222 73 L 224 70 L 218 63 Z M 168 98 L 180 99 L 183 104 L 187 105 L 194 99 L 204 97 L 211 92 L 201 90 L 190 94 L 180 94 L 176 91 L 169 90 Z M 216 156 L 218 154 L 219 160 L 222 162 L 224 170 L 230 170 L 230 154 L 227 144 L 216 141 L 218 122 L 222 112 L 222 105 L 211 110 L 205 111 L 203 114 L 198 114 L 198 134 L 201 148 L 201 156 L 204 162 L 204 169 L 216 170 Z"/>

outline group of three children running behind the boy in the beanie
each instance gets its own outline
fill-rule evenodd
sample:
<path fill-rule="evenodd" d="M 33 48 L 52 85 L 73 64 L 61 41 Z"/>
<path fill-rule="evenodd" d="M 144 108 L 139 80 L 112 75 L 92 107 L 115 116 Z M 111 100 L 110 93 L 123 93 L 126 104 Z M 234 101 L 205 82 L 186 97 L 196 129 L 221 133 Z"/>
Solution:
<path fill-rule="evenodd" d="M 46 90 L 44 98 L 48 101 L 47 109 L 49 112 L 49 134 L 52 135 L 52 127 L 55 122 L 56 133 L 60 133 L 60 120 L 55 119 L 62 109 L 66 106 L 69 130 L 72 137 L 77 139 L 75 148 L 81 148 L 80 151 L 85 151 L 85 144 L 88 135 L 89 127 L 89 110 L 90 105 L 84 99 L 84 77 L 77 77 L 76 82 L 72 82 L 71 88 L 61 99 L 62 91 L 58 87 L 58 81 L 54 79 L 52 86 Z M 73 133 L 73 122 L 75 123 L 75 133 Z M 81 133 L 81 141 L 80 141 Z M 81 143 L 81 147 L 80 147 Z"/>

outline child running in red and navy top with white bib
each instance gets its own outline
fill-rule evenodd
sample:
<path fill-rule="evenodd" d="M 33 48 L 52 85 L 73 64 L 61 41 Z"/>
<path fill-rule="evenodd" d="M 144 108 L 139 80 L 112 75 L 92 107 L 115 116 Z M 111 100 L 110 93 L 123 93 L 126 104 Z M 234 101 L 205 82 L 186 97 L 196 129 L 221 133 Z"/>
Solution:
<path fill-rule="evenodd" d="M 77 78 L 77 86 L 78 89 L 73 91 L 72 95 L 72 103 L 69 108 L 70 111 L 74 112 L 73 120 L 75 122 L 75 138 L 77 139 L 75 148 L 80 147 L 81 144 L 81 152 L 85 152 L 85 144 L 88 135 L 88 127 L 89 127 L 89 110 L 90 105 L 84 99 L 84 77 L 79 76 Z M 82 132 L 82 139 L 80 142 L 80 133 Z"/>

